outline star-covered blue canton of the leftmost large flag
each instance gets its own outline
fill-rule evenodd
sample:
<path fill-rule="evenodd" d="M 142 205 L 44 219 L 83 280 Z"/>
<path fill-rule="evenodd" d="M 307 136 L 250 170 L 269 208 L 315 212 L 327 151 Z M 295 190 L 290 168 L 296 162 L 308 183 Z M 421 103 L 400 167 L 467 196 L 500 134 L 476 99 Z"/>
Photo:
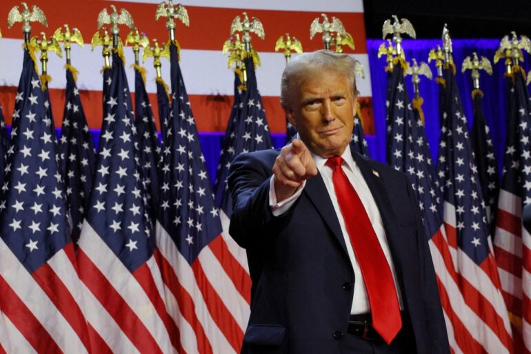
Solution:
<path fill-rule="evenodd" d="M 1 187 L 0 237 L 30 273 L 71 242 L 47 98 L 25 50 Z"/>

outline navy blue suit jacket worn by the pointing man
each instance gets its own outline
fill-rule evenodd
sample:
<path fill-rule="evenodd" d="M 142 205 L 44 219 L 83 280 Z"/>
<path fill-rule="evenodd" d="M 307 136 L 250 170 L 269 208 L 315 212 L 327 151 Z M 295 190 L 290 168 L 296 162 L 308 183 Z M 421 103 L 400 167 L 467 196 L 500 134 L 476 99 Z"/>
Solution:
<path fill-rule="evenodd" d="M 246 248 L 252 278 L 241 353 L 339 354 L 337 333 L 347 330 L 356 281 L 341 226 L 321 175 L 306 181 L 287 213 L 272 215 L 269 184 L 278 155 L 279 150 L 239 155 L 228 178 L 230 235 Z M 447 354 L 428 239 L 408 177 L 357 153 L 353 157 L 383 219 L 412 348 Z"/>

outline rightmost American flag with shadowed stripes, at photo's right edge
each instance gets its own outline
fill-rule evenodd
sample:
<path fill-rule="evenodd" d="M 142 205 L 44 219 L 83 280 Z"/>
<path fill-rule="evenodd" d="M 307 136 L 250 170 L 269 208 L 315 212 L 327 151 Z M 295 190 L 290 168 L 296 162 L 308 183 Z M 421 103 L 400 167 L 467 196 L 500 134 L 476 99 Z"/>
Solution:
<path fill-rule="evenodd" d="M 531 202 L 531 104 L 519 67 L 508 79 L 509 112 L 494 253 L 509 311 L 515 353 L 531 353 L 531 235 L 522 226 Z"/>

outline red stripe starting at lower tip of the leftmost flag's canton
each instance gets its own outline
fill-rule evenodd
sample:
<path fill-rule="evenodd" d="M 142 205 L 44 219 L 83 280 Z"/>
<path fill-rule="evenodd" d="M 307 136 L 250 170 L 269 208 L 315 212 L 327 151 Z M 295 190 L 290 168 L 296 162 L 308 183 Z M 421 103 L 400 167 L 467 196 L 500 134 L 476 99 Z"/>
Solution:
<path fill-rule="evenodd" d="M 65 249 L 65 251 L 67 251 Z M 74 249 L 72 248 L 72 252 Z M 77 274 L 72 274 L 77 277 Z M 83 346 L 87 348 L 90 353 L 90 340 L 88 338 L 86 320 L 68 288 L 57 277 L 57 274 L 47 264 L 43 264 L 41 268 L 32 273 L 32 277 L 43 289 L 44 293 L 48 295 L 50 301 L 55 305 L 57 310 L 65 317 L 66 322 L 70 324 L 74 332 L 79 337 L 79 340 L 83 343 Z"/>

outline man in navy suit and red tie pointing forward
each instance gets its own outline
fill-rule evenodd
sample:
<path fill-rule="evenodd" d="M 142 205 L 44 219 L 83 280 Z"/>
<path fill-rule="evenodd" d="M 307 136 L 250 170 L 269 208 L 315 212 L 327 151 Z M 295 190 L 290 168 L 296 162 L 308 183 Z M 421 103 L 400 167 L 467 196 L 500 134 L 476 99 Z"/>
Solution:
<path fill-rule="evenodd" d="M 450 351 L 408 178 L 350 152 L 356 99 L 348 55 L 299 55 L 281 83 L 298 137 L 232 163 L 230 235 L 252 277 L 241 353 Z"/>

